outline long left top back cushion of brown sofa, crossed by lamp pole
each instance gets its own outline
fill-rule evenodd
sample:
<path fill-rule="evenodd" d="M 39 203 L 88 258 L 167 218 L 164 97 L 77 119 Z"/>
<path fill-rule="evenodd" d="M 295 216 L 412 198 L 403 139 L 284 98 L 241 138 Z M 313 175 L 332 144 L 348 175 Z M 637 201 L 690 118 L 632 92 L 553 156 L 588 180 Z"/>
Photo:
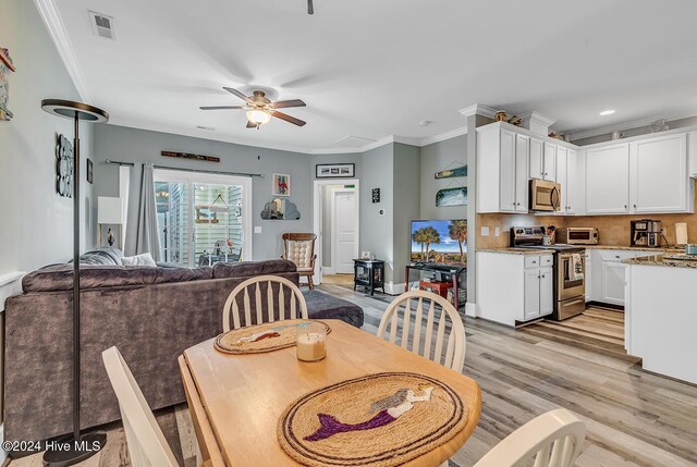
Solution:
<path fill-rule="evenodd" d="M 81 288 L 123 287 L 168 282 L 212 279 L 211 268 L 144 268 L 138 266 L 87 265 L 80 269 Z M 53 265 L 30 272 L 22 280 L 25 293 L 70 291 L 73 288 L 71 265 Z"/>

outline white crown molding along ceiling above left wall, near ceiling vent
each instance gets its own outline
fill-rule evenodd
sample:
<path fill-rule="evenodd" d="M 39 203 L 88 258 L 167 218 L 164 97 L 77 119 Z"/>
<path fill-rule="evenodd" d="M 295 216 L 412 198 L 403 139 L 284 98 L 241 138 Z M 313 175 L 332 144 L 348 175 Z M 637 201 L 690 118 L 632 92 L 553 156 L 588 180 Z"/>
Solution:
<path fill-rule="evenodd" d="M 87 87 L 82 67 L 77 62 L 75 49 L 70 41 L 70 37 L 65 30 L 65 25 L 63 24 L 63 20 L 61 19 L 54 1 L 34 0 L 34 3 L 36 4 L 39 15 L 44 20 L 44 24 L 46 25 L 51 39 L 53 39 L 53 44 L 58 49 L 58 54 L 61 57 L 63 64 L 68 69 L 68 74 L 73 81 L 73 85 L 75 86 L 75 89 L 77 89 L 81 100 L 84 102 L 91 102 L 94 100 L 93 95 Z"/>

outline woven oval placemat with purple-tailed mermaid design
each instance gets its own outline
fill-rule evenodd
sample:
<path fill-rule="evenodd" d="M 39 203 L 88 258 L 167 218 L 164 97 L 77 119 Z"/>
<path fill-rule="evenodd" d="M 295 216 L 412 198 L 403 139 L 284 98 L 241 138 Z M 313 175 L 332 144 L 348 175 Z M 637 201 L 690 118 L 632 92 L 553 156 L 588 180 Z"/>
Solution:
<path fill-rule="evenodd" d="M 416 373 L 376 373 L 293 402 L 277 427 L 285 453 L 311 467 L 404 464 L 447 443 L 467 425 L 448 385 Z"/>

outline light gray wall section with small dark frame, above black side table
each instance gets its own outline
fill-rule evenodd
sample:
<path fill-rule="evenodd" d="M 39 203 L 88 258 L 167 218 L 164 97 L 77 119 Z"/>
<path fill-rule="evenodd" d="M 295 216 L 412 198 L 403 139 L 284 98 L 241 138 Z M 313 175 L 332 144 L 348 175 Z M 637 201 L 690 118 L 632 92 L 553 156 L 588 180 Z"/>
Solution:
<path fill-rule="evenodd" d="M 393 281 L 394 248 L 394 151 L 392 144 L 363 153 L 360 179 L 360 251 L 371 251 L 386 261 L 386 282 Z M 380 188 L 381 199 L 372 204 L 372 188 Z M 383 209 L 384 213 L 380 214 Z"/>

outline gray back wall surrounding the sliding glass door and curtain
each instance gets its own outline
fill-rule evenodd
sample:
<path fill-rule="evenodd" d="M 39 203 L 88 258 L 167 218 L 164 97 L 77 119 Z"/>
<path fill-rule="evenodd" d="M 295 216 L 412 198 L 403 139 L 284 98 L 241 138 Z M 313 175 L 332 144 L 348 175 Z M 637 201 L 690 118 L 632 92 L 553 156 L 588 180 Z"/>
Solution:
<path fill-rule="evenodd" d="M 162 150 L 194 152 L 221 158 L 220 163 L 187 161 L 166 158 Z M 140 173 L 143 162 L 156 165 L 186 168 L 196 170 L 217 170 L 230 172 L 262 173 L 264 179 L 254 177 L 253 184 L 253 225 L 260 225 L 261 233 L 253 234 L 254 259 L 278 258 L 282 253 L 281 234 L 283 232 L 311 232 L 313 204 L 311 180 L 314 167 L 311 158 L 298 152 L 264 149 L 241 146 L 230 143 L 212 142 L 189 136 L 127 128 L 115 125 L 101 125 L 95 135 L 95 186 L 99 196 L 119 195 L 119 169 L 109 165 L 107 159 L 135 162 L 131 171 L 131 206 L 129 208 L 129 226 L 126 254 L 134 253 L 137 229 L 137 211 L 140 199 Z M 291 175 L 290 200 L 297 206 L 301 219 L 297 221 L 262 220 L 259 216 L 264 205 L 272 199 L 271 179 L 273 173 Z M 130 238 L 130 241 L 129 241 Z"/>

